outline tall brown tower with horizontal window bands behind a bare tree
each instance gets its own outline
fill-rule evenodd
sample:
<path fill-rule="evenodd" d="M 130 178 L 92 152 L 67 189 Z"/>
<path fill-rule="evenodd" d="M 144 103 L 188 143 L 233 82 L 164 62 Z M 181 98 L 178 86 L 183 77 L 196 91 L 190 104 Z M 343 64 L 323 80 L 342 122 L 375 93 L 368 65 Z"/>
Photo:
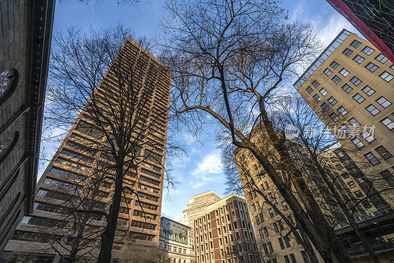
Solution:
<path fill-rule="evenodd" d="M 122 78 L 126 84 L 120 86 Z M 46 257 L 59 253 L 67 257 L 73 248 L 82 257 L 98 254 L 99 235 L 105 226 L 100 211 L 108 211 L 112 203 L 113 178 L 119 169 L 114 154 L 120 146 L 112 139 L 112 126 L 120 118 L 124 123 L 119 125 L 131 127 L 126 130 L 131 151 L 123 166 L 113 253 L 116 256 L 128 242 L 158 244 L 170 81 L 170 71 L 163 63 L 131 38 L 126 39 L 45 169 L 36 188 L 33 215 L 23 218 L 6 251 L 35 242 L 40 243 L 39 251 L 32 253 Z M 116 99 L 114 94 L 121 97 Z M 99 104 L 95 108 L 99 113 L 94 112 L 94 103 Z M 100 122 L 98 116 L 113 123 Z"/>

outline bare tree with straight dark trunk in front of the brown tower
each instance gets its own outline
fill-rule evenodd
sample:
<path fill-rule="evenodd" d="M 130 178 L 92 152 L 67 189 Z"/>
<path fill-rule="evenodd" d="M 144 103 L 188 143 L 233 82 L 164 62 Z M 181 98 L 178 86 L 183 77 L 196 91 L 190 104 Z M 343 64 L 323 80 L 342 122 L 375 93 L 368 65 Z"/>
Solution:
<path fill-rule="evenodd" d="M 171 72 L 147 51 L 146 39 L 137 44 L 130 36 L 133 32 L 121 25 L 90 33 L 71 28 L 55 35 L 52 44 L 46 121 L 89 137 L 92 143 L 87 150 L 95 153 L 95 162 L 89 166 L 91 184 L 112 189 L 107 207 L 73 209 L 74 214 L 105 219 L 98 262 L 111 259 L 119 213 L 130 210 L 121 203 L 129 205 L 135 199 L 144 209 L 140 198 L 151 197 L 141 192 L 140 183 L 148 180 L 167 187 L 175 183 L 163 172 Z M 140 177 L 141 165 L 161 175 Z M 141 228 L 151 229 L 148 221 L 157 221 L 141 217 L 146 220 Z"/>

